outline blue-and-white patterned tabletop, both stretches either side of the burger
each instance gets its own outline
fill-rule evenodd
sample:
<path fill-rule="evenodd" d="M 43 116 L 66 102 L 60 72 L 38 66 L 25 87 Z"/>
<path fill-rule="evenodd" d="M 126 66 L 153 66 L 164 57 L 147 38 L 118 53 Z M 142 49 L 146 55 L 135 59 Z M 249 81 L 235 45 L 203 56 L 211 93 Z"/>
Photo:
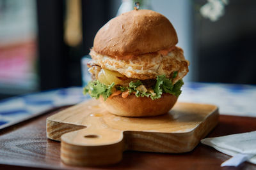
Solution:
<path fill-rule="evenodd" d="M 82 87 L 69 87 L 4 99 L 0 101 L 0 129 L 89 98 L 83 95 Z M 223 115 L 256 117 L 255 85 L 186 82 L 179 101 L 215 104 Z"/>

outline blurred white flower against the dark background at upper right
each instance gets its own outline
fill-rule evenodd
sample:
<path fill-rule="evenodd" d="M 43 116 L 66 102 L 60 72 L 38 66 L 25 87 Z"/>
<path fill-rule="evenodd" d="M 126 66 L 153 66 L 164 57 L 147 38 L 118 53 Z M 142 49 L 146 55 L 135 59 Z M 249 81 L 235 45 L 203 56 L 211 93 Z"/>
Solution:
<path fill-rule="evenodd" d="M 208 2 L 200 8 L 200 13 L 203 17 L 209 18 L 211 21 L 216 21 L 225 13 L 225 5 L 228 0 L 207 0 Z"/>

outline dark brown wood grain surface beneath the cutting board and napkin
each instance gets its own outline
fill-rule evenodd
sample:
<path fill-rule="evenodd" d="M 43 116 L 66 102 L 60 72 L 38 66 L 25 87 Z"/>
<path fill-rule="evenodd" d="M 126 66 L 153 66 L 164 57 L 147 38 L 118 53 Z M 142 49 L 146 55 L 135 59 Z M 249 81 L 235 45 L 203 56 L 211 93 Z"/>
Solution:
<path fill-rule="evenodd" d="M 0 131 L 0 169 L 256 169 L 245 162 L 239 167 L 220 167 L 229 158 L 199 144 L 188 153 L 124 152 L 118 164 L 104 167 L 70 167 L 60 160 L 60 142 L 45 138 L 49 111 Z M 256 131 L 256 118 L 220 115 L 220 122 L 207 137 Z"/>

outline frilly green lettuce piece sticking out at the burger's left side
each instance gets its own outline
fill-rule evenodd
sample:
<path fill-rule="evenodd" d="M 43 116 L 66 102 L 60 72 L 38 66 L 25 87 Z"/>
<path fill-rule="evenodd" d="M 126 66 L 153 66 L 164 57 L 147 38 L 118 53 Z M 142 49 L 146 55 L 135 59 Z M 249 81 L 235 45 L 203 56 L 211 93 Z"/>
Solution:
<path fill-rule="evenodd" d="M 100 96 L 106 100 L 111 94 L 115 83 L 111 85 L 104 85 L 99 80 L 90 81 L 86 87 L 84 87 L 84 94 L 90 94 L 90 96 L 99 99 Z"/>

